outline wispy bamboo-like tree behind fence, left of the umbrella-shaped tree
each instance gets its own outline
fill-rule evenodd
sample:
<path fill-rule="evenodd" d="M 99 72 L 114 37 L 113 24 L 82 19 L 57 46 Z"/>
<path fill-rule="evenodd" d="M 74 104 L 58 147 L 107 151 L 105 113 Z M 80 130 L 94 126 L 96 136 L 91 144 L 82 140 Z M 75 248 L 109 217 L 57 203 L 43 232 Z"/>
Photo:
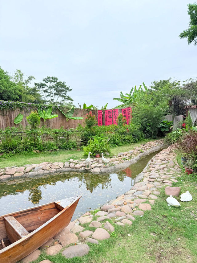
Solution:
<path fill-rule="evenodd" d="M 18 88 L 22 90 L 22 101 L 26 103 L 44 103 L 42 96 L 36 87 L 30 88 L 28 85 L 35 77 L 30 75 L 24 78 L 24 74 L 20 69 L 17 69 L 13 75 L 10 75 L 10 79 L 16 83 Z"/>

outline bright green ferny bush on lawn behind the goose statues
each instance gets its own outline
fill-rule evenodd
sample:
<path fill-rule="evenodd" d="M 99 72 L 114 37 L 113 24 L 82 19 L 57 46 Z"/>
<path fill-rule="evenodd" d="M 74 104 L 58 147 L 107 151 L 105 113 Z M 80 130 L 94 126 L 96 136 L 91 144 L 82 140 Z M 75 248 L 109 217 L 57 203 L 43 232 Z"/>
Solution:
<path fill-rule="evenodd" d="M 89 152 L 96 155 L 102 152 L 109 152 L 110 148 L 107 138 L 94 136 L 92 139 L 89 139 L 87 146 L 84 146 L 83 150 L 85 155 L 88 155 Z"/>

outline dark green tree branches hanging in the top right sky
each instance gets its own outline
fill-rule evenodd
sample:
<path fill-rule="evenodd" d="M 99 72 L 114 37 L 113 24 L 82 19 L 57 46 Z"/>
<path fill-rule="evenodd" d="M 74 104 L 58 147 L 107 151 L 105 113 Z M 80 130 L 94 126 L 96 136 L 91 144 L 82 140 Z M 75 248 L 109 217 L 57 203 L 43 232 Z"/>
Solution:
<path fill-rule="evenodd" d="M 197 45 L 197 4 L 188 4 L 188 15 L 190 15 L 189 28 L 180 33 L 180 38 L 187 38 L 188 45 L 194 42 Z"/>

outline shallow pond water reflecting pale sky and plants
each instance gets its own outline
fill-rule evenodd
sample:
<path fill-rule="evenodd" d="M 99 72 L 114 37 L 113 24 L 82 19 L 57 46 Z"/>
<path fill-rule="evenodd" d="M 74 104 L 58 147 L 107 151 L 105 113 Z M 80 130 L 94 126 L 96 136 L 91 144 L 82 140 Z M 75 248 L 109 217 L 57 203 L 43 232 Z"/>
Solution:
<path fill-rule="evenodd" d="M 82 195 L 73 216 L 73 219 L 78 218 L 86 211 L 130 190 L 135 177 L 156 153 L 141 158 L 139 162 L 122 171 L 107 175 L 69 172 L 0 183 L 0 215 Z"/>

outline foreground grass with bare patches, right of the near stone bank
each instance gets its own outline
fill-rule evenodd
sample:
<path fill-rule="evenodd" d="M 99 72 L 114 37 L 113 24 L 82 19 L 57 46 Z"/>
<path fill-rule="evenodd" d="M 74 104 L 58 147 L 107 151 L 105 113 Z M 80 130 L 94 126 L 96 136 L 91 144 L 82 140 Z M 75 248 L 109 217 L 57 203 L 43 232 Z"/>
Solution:
<path fill-rule="evenodd" d="M 181 202 L 179 208 L 167 205 L 164 188 L 161 190 L 151 211 L 137 217 L 131 226 L 115 227 L 115 234 L 99 245 L 88 244 L 90 252 L 83 257 L 66 259 L 61 252 L 47 256 L 45 250 L 35 263 L 49 259 L 54 263 L 188 263 L 197 262 L 197 175 L 178 177 L 173 184 L 188 190 L 193 196 L 190 202 Z M 95 220 L 95 216 L 93 218 Z M 95 230 L 85 224 L 85 230 Z M 130 234 L 131 236 L 128 236 Z"/>

